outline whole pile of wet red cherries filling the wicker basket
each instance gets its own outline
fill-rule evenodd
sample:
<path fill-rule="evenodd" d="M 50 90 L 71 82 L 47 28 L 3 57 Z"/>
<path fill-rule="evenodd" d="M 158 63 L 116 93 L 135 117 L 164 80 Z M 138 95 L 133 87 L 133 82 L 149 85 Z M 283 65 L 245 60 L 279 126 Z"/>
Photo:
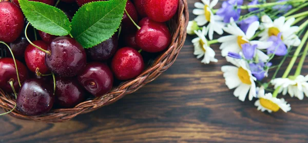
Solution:
<path fill-rule="evenodd" d="M 54 0 L 34 1 L 55 4 Z M 61 1 L 57 7 L 70 20 L 79 7 L 93 2 Z M 145 68 L 143 58 L 149 53 L 166 50 L 171 35 L 165 22 L 176 14 L 178 4 L 179 0 L 128 0 L 121 29 L 104 42 L 84 49 L 69 36 L 28 28 L 18 0 L 0 2 L 0 48 L 7 53 L 7 57 L 0 57 L 0 88 L 9 93 L 19 91 L 16 108 L 25 115 L 74 107 L 85 101 L 86 92 L 103 96 L 111 90 L 114 80 L 139 76 Z"/>

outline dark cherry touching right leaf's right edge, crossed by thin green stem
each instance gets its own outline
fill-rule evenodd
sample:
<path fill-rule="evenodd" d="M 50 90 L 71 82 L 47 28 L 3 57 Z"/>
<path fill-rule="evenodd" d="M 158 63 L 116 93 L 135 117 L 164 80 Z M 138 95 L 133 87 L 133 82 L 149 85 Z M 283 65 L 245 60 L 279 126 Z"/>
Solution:
<path fill-rule="evenodd" d="M 133 6 L 133 4 L 128 0 L 125 7 L 127 13 L 130 15 L 130 17 L 133 19 L 134 22 L 138 23 L 138 13 L 136 8 Z M 123 19 L 122 19 L 122 31 L 125 33 L 130 33 L 133 31 L 136 31 L 136 26 L 133 25 L 131 20 L 128 18 L 126 13 L 124 13 Z"/>

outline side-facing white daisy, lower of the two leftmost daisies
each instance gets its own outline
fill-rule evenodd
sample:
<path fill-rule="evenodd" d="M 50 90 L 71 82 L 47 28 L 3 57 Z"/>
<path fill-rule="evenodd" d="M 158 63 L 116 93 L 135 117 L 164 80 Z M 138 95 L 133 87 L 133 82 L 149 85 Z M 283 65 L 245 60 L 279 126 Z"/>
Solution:
<path fill-rule="evenodd" d="M 198 30 L 195 33 L 198 35 L 197 38 L 192 39 L 192 43 L 194 43 L 195 52 L 194 55 L 197 55 L 197 58 L 201 58 L 204 56 L 201 63 L 208 64 L 209 62 L 217 62 L 218 60 L 215 59 L 215 51 L 209 47 L 207 40 L 205 38 L 206 28 L 203 27 L 202 31 Z"/>

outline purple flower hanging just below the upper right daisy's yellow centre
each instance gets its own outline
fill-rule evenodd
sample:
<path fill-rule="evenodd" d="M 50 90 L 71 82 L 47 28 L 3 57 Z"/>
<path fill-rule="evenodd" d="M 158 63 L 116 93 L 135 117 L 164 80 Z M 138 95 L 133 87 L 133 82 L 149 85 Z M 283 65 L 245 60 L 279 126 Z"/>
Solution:
<path fill-rule="evenodd" d="M 272 41 L 273 44 L 267 47 L 267 55 L 275 54 L 276 56 L 284 56 L 287 53 L 286 45 L 281 40 L 281 33 L 278 36 L 271 36 L 267 41 Z"/>

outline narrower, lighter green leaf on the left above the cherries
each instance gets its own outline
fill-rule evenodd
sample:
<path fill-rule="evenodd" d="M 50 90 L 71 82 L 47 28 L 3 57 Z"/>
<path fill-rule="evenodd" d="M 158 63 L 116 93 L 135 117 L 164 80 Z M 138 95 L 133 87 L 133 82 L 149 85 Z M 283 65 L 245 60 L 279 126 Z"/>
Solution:
<path fill-rule="evenodd" d="M 56 36 L 70 33 L 71 23 L 62 10 L 40 2 L 28 0 L 18 0 L 18 2 L 34 28 Z"/>

